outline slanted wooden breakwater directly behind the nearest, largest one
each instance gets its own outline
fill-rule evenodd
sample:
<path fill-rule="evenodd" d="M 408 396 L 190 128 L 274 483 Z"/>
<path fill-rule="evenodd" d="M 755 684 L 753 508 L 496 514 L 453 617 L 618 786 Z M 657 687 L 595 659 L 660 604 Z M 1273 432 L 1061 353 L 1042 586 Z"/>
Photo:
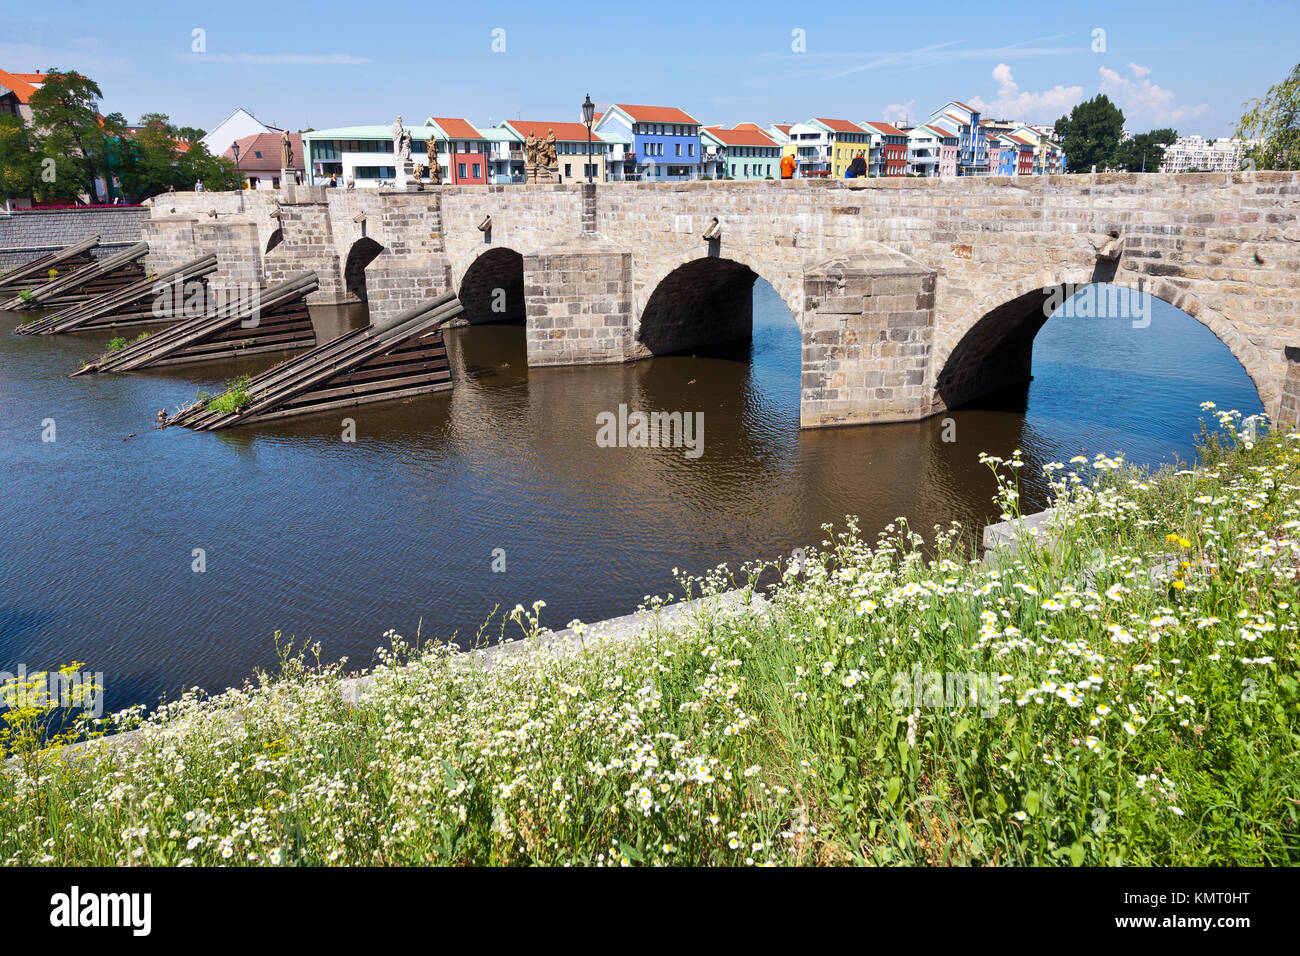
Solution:
<path fill-rule="evenodd" d="M 104 354 L 73 375 L 133 372 L 313 346 L 316 332 L 304 298 L 316 286 L 316 273 L 303 272 L 251 297 L 231 295 L 200 316 Z"/>

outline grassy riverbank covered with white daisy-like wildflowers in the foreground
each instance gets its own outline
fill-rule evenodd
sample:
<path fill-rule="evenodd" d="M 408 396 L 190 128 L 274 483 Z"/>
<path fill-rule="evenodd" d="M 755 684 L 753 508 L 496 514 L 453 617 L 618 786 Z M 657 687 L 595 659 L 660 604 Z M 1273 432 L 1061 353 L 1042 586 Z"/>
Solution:
<path fill-rule="evenodd" d="M 390 635 L 350 698 L 289 657 L 0 780 L 0 858 L 1300 862 L 1300 436 L 1225 424 L 1197 470 L 1049 466 L 1050 546 L 849 524 L 766 609 L 637 640 L 482 667 Z M 1023 463 L 989 466 L 1015 518 Z"/>

